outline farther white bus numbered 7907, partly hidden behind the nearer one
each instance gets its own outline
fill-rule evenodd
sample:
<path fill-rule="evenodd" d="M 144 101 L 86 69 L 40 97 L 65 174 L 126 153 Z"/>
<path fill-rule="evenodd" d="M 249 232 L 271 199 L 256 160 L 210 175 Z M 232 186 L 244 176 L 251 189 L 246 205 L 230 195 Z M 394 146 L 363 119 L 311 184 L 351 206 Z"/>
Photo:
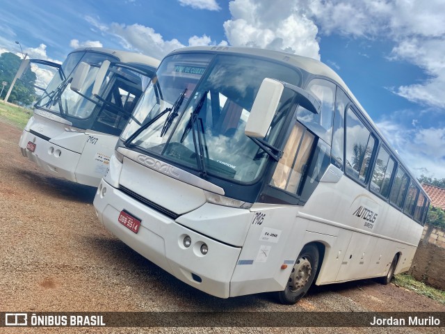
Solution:
<path fill-rule="evenodd" d="M 84 48 L 53 65 L 57 72 L 47 88 L 40 88 L 42 96 L 19 147 L 24 157 L 52 175 L 98 186 L 159 61 L 127 51 Z M 102 86 L 95 86 L 97 76 Z"/>

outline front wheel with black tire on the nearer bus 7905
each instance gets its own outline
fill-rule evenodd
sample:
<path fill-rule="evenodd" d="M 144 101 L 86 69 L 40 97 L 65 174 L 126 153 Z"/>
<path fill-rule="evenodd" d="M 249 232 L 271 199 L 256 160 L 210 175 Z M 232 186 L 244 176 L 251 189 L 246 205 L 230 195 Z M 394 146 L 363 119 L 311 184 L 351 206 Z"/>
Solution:
<path fill-rule="evenodd" d="M 306 245 L 293 265 L 286 288 L 278 292 L 282 304 L 292 305 L 302 299 L 309 290 L 318 271 L 319 253 L 315 245 Z"/>

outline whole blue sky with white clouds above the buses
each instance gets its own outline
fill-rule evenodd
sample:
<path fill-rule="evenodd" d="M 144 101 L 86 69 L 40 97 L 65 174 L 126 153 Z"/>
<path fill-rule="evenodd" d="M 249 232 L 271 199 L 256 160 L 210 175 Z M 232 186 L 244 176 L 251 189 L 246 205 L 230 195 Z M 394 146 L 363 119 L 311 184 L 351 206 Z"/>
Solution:
<path fill-rule="evenodd" d="M 3 0 L 0 53 L 20 56 L 21 46 L 61 62 L 77 47 L 108 47 L 162 59 L 181 47 L 229 45 L 316 58 L 416 176 L 442 179 L 444 15 L 443 0 Z"/>

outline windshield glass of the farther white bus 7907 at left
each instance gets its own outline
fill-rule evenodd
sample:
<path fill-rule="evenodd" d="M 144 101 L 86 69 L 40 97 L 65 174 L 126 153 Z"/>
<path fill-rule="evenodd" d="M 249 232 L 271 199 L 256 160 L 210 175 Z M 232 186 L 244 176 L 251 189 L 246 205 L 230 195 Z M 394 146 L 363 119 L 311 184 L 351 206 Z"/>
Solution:
<path fill-rule="evenodd" d="M 81 119 L 88 118 L 95 109 L 95 103 L 70 89 L 72 74 L 80 61 L 94 65 L 88 72 L 82 88 L 83 95 L 94 100 L 91 95 L 92 86 L 94 85 L 99 66 L 102 65 L 102 62 L 105 60 L 115 61 L 115 58 L 94 52 L 73 52 L 68 55 L 58 74 L 51 80 L 44 95 L 35 106 L 40 109 L 59 113 L 60 116 L 66 115 Z M 108 81 L 109 77 L 106 78 L 106 82 Z"/>

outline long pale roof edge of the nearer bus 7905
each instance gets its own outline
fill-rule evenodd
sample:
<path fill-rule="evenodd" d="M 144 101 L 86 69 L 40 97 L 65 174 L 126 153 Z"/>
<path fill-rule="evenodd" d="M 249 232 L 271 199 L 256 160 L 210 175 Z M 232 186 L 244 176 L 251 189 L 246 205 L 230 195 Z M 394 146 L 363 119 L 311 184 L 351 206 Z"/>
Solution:
<path fill-rule="evenodd" d="M 314 58 L 309 58 L 305 56 L 298 56 L 297 54 L 288 54 L 283 51 L 275 51 L 275 50 L 268 50 L 268 49 L 257 49 L 254 47 L 184 47 L 182 49 L 177 49 L 175 51 L 172 51 L 170 54 L 179 54 L 179 53 L 186 53 L 186 52 L 211 52 L 211 53 L 230 53 L 230 54 L 243 54 L 243 55 L 251 55 L 251 56 L 259 56 L 264 58 L 270 58 L 274 61 L 278 61 L 280 63 L 285 63 L 287 65 L 291 65 L 293 67 L 301 68 L 302 70 L 305 70 L 306 72 L 309 72 L 311 74 L 327 77 L 337 82 L 338 86 L 343 88 L 343 90 L 349 95 L 352 102 L 357 106 L 357 108 L 362 112 L 362 115 L 366 120 L 372 125 L 373 130 L 378 134 L 380 139 L 387 145 L 387 147 L 391 150 L 392 154 L 398 159 L 398 161 L 402 164 L 402 166 L 405 168 L 408 174 L 410 174 L 411 179 L 414 180 L 414 183 L 419 186 L 419 188 L 422 190 L 421 184 L 416 180 L 416 177 L 412 176 L 412 173 L 407 168 L 407 166 L 403 163 L 401 157 L 399 157 L 396 150 L 392 148 L 392 146 L 389 144 L 385 136 L 380 132 L 380 129 L 378 129 L 378 126 L 375 124 L 375 122 L 372 120 L 372 118 L 369 116 L 369 114 L 366 112 L 366 110 L 363 108 L 362 104 L 358 102 L 357 98 L 353 95 L 353 92 L 346 86 L 345 82 L 339 74 L 334 72 L 332 68 L 325 65 L 321 61 L 317 61 Z M 426 194 L 425 191 L 423 193 Z M 428 199 L 430 197 L 428 194 L 426 194 Z"/>

